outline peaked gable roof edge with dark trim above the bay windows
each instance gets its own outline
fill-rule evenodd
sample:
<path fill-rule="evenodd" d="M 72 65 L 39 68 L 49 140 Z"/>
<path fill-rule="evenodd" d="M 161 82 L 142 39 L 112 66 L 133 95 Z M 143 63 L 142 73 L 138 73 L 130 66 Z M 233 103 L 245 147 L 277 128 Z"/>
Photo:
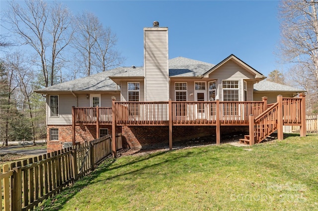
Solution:
<path fill-rule="evenodd" d="M 218 69 L 220 66 L 222 66 L 223 64 L 225 64 L 227 61 L 229 60 L 233 60 L 235 63 L 237 63 L 239 66 L 241 66 L 242 68 L 244 68 L 246 71 L 252 73 L 255 75 L 255 79 L 259 79 L 259 80 L 263 80 L 266 77 L 258 72 L 257 70 L 255 70 L 254 68 L 252 68 L 251 66 L 249 66 L 248 64 L 246 64 L 244 61 L 242 61 L 241 59 L 239 59 L 236 55 L 231 54 L 228 57 L 226 57 L 225 59 L 223 59 L 220 63 L 218 63 L 217 65 L 215 65 L 214 67 L 212 67 L 210 70 L 208 70 L 207 72 L 205 72 L 203 74 L 203 77 L 209 77 L 209 74 L 212 73 L 213 71 L 215 71 L 216 69 Z"/>

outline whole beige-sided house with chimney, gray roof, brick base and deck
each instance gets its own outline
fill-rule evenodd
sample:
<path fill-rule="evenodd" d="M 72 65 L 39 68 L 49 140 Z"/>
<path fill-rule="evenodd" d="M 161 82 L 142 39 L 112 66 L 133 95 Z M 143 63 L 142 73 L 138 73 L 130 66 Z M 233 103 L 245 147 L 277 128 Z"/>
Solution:
<path fill-rule="evenodd" d="M 35 92 L 46 95 L 48 152 L 115 133 L 129 148 L 169 144 L 171 149 L 172 140 L 216 135 L 220 143 L 229 131 L 249 133 L 250 114 L 264 112 L 278 94 L 291 98 L 303 92 L 280 90 L 265 78 L 234 54 L 216 65 L 168 59 L 168 28 L 155 21 L 144 28 L 144 67 L 118 67 Z M 305 102 L 302 96 L 292 104 Z M 292 123 L 301 125 L 300 107 L 291 112 L 299 113 Z M 284 115 L 287 124 L 292 115 Z M 276 129 L 277 124 L 263 136 Z"/>

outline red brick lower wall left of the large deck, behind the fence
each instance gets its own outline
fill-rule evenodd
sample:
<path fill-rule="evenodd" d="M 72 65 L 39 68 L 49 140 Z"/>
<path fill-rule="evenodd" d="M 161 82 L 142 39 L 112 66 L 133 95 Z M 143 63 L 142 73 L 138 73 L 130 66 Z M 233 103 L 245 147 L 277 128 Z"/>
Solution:
<path fill-rule="evenodd" d="M 59 140 L 50 141 L 50 129 L 59 129 Z M 99 128 L 107 128 L 111 134 L 111 125 L 101 125 Z M 121 127 L 116 127 L 116 133 L 121 133 Z M 96 125 L 77 125 L 75 127 L 76 142 L 83 143 L 96 139 Z M 64 142 L 72 142 L 72 125 L 48 125 L 47 126 L 47 153 L 63 149 Z"/>

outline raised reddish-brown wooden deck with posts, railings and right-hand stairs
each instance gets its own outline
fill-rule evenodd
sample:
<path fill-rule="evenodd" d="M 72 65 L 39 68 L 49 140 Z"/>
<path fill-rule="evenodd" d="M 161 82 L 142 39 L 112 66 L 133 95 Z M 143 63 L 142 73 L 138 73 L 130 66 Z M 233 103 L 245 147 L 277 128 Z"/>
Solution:
<path fill-rule="evenodd" d="M 116 102 L 113 98 L 112 107 L 73 107 L 73 137 L 76 125 L 96 125 L 96 137 L 100 125 L 112 125 L 113 130 L 116 126 L 169 126 L 172 149 L 172 126 L 216 126 L 220 144 L 221 126 L 246 125 L 250 143 L 254 143 L 254 136 L 260 142 L 275 130 L 282 139 L 283 125 L 299 125 L 301 136 L 306 136 L 305 109 L 305 94 L 299 98 L 277 96 L 277 103 L 271 105 L 266 97 L 253 102 Z"/>

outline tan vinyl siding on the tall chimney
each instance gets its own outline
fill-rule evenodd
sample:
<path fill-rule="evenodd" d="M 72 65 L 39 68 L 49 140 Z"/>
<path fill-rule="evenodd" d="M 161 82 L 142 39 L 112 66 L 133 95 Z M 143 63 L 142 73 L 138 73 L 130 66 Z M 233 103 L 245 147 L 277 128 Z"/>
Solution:
<path fill-rule="evenodd" d="M 167 101 L 169 96 L 167 28 L 145 28 L 145 100 Z"/>

